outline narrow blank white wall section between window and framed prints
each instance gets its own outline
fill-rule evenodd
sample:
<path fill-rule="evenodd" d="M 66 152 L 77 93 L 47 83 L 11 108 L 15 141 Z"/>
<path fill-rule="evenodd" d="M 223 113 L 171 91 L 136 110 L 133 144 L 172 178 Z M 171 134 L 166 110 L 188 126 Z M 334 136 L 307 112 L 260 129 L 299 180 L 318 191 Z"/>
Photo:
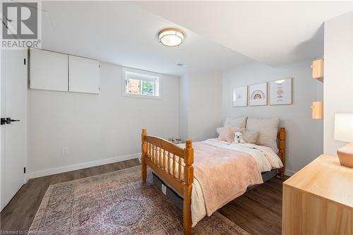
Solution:
<path fill-rule="evenodd" d="M 181 138 L 215 138 L 222 123 L 222 74 L 189 73 L 181 77 L 180 86 Z"/>

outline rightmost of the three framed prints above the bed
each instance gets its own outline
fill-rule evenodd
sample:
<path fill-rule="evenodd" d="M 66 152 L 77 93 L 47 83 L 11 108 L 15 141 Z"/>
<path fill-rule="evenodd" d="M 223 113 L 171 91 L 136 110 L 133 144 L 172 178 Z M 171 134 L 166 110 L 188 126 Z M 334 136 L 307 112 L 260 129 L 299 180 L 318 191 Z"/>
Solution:
<path fill-rule="evenodd" d="M 292 78 L 270 81 L 270 105 L 293 104 Z"/>

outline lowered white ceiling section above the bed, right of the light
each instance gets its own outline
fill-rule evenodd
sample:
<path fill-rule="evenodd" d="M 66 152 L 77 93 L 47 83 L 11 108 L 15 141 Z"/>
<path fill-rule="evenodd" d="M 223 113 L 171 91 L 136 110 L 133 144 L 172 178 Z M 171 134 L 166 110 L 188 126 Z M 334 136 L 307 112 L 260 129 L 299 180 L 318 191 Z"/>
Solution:
<path fill-rule="evenodd" d="M 323 56 L 323 22 L 352 1 L 152 1 L 148 11 L 270 66 Z"/>

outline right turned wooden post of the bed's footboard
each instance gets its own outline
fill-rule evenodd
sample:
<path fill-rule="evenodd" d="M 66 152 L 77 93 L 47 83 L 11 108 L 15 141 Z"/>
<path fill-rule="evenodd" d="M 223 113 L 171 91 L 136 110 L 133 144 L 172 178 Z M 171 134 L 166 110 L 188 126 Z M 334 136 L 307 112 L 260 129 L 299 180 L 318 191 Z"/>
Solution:
<path fill-rule="evenodd" d="M 191 140 L 186 140 L 184 158 L 184 232 L 191 234 L 191 190 L 193 187 L 193 146 Z"/>

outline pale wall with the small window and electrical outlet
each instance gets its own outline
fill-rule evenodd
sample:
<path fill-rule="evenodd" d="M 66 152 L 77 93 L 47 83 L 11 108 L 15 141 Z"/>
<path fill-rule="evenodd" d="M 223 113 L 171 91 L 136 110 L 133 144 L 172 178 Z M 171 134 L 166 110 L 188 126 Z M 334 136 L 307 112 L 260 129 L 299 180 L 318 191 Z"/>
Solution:
<path fill-rule="evenodd" d="M 179 78 L 161 79 L 160 100 L 123 97 L 121 66 L 101 63 L 100 95 L 28 90 L 30 176 L 136 158 L 143 127 L 178 136 Z"/>

